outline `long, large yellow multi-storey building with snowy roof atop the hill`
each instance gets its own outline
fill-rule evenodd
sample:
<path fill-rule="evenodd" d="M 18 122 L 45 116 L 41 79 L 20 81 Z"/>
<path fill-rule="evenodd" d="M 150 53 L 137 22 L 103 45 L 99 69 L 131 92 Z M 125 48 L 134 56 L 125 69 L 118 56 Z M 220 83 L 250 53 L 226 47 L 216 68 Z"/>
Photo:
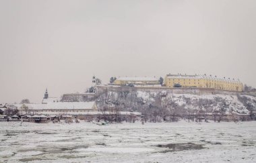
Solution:
<path fill-rule="evenodd" d="M 226 91 L 243 91 L 243 83 L 234 78 L 217 78 L 206 75 L 167 74 L 164 80 L 166 87 L 199 87 Z"/>

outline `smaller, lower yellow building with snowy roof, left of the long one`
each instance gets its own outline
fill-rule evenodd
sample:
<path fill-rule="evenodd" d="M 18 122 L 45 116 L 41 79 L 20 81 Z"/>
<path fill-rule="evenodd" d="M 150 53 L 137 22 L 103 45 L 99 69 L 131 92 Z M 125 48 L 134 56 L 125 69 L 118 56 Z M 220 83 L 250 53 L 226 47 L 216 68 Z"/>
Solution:
<path fill-rule="evenodd" d="M 119 77 L 115 85 L 159 85 L 158 78 L 153 77 Z"/>

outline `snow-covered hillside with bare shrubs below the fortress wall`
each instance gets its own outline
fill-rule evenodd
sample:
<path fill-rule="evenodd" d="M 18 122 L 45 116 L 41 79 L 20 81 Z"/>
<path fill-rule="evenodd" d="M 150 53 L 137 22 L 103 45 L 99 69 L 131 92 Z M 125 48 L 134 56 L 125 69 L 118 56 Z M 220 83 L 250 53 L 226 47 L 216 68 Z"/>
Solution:
<path fill-rule="evenodd" d="M 256 98 L 248 95 L 193 95 L 152 91 L 107 91 L 99 97 L 108 99 L 100 105 L 119 105 L 123 110 L 170 113 L 249 114 L 256 107 Z"/>

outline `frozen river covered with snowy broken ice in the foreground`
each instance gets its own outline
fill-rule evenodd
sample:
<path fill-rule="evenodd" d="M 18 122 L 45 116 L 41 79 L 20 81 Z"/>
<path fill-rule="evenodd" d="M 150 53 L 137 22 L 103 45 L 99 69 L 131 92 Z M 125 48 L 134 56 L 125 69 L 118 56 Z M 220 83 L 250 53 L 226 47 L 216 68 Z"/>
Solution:
<path fill-rule="evenodd" d="M 0 122 L 0 162 L 256 162 L 256 121 Z"/>

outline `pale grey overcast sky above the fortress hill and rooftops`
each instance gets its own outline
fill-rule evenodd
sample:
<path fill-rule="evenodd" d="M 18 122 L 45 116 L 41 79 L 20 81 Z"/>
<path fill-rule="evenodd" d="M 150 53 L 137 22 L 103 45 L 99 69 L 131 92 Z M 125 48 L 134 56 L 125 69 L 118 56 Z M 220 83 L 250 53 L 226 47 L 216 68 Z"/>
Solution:
<path fill-rule="evenodd" d="M 0 0 L 0 103 L 92 76 L 212 74 L 256 87 L 256 1 Z"/>

